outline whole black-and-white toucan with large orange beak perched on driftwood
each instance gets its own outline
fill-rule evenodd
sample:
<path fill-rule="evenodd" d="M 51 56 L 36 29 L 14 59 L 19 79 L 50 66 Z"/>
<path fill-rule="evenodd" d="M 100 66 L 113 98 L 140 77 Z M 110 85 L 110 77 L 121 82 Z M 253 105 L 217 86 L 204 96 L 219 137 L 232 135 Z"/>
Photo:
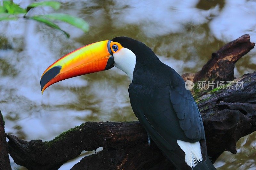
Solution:
<path fill-rule="evenodd" d="M 130 78 L 132 110 L 166 158 L 181 170 L 215 169 L 200 112 L 184 80 L 140 41 L 116 37 L 70 52 L 44 71 L 42 94 L 61 80 L 114 66 Z"/>

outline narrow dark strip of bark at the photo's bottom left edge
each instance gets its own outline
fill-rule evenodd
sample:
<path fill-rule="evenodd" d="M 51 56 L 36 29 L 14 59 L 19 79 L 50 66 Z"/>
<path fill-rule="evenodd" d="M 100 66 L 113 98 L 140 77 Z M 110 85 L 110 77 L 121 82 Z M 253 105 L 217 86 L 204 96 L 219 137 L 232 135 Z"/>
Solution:
<path fill-rule="evenodd" d="M 8 144 L 6 142 L 6 135 L 4 133 L 4 119 L 0 110 L 0 169 L 11 169 Z"/>

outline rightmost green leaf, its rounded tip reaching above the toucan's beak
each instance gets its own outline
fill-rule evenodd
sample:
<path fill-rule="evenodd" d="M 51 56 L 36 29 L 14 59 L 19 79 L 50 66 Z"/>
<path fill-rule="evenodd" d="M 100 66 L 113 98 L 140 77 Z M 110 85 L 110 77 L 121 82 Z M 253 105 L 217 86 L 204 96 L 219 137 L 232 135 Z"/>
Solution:
<path fill-rule="evenodd" d="M 51 20 L 59 20 L 59 21 L 66 22 L 72 26 L 76 26 L 77 28 L 80 28 L 84 32 L 89 31 L 89 24 L 85 22 L 82 18 L 74 17 L 72 15 L 63 14 L 63 13 L 47 14 L 47 15 L 44 15 L 44 17 Z"/>

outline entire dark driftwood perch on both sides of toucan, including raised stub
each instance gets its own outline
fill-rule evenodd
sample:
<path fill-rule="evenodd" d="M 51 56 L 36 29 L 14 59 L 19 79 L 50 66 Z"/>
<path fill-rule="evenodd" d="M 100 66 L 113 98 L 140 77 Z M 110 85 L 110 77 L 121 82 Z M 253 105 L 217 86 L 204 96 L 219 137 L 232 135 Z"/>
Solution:
<path fill-rule="evenodd" d="M 243 35 L 213 53 L 201 71 L 182 77 L 232 80 L 236 61 L 254 45 L 249 35 Z M 213 162 L 223 151 L 236 153 L 238 139 L 256 130 L 256 72 L 234 81 L 243 81 L 243 88 L 236 89 L 234 85 L 233 89 L 192 91 L 202 115 L 208 155 Z M 10 155 L 17 164 L 28 169 L 58 169 L 82 151 L 99 147 L 103 150 L 84 157 L 72 169 L 174 169 L 153 141 L 148 146 L 147 133 L 140 122 L 86 122 L 50 142 L 7 137 Z"/>

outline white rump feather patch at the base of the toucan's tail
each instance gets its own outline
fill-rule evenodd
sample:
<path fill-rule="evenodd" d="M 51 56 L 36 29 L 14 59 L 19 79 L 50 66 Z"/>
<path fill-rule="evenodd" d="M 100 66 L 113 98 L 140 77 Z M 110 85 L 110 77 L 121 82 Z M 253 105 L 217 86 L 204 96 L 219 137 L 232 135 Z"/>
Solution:
<path fill-rule="evenodd" d="M 203 161 L 199 142 L 189 143 L 182 140 L 177 140 L 177 143 L 185 152 L 185 162 L 188 164 L 188 166 L 193 168 L 198 163 Z"/>

